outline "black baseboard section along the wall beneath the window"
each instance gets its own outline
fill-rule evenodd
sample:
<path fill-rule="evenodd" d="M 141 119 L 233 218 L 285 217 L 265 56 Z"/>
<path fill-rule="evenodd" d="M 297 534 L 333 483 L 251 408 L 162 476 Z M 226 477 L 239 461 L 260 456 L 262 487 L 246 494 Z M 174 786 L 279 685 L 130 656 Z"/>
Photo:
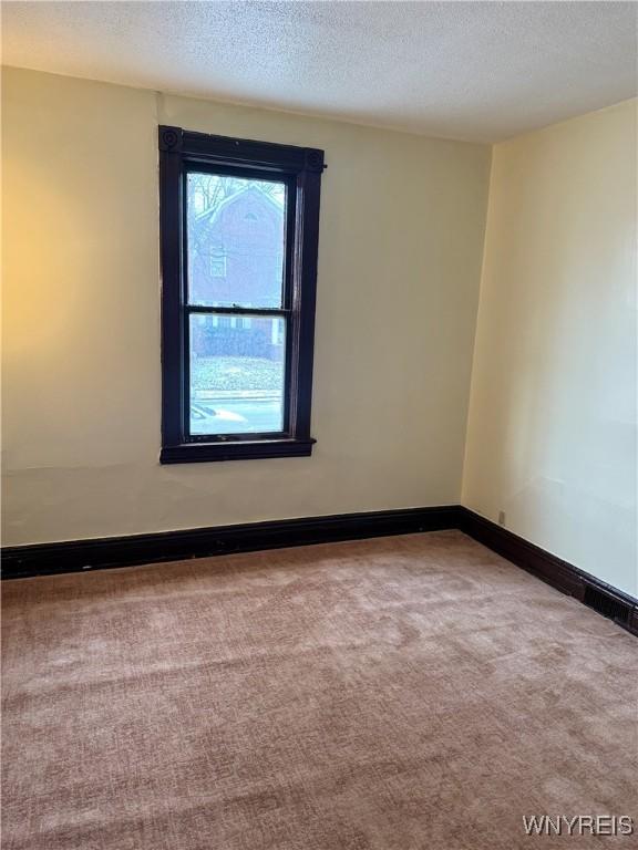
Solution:
<path fill-rule="evenodd" d="M 130 537 L 104 537 L 2 549 L 2 578 L 22 579 L 60 572 L 132 567 L 258 549 L 329 543 L 368 537 L 410 535 L 457 528 L 456 505 L 407 508 L 331 517 L 249 522 Z"/>

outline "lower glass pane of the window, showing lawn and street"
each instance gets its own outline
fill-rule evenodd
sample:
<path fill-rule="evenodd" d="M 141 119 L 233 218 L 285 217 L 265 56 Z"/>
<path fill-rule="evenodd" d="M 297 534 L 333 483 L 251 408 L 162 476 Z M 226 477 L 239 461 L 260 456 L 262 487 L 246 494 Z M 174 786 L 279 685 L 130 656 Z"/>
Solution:
<path fill-rule="evenodd" d="M 284 431 L 286 322 L 191 314 L 191 434 Z"/>

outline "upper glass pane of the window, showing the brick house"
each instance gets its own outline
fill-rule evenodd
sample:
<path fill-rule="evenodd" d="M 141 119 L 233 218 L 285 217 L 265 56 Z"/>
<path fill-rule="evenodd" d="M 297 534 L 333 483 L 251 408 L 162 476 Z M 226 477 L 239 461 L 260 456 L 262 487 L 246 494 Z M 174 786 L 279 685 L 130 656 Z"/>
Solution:
<path fill-rule="evenodd" d="M 286 184 L 191 172 L 188 301 L 281 307 Z"/>

